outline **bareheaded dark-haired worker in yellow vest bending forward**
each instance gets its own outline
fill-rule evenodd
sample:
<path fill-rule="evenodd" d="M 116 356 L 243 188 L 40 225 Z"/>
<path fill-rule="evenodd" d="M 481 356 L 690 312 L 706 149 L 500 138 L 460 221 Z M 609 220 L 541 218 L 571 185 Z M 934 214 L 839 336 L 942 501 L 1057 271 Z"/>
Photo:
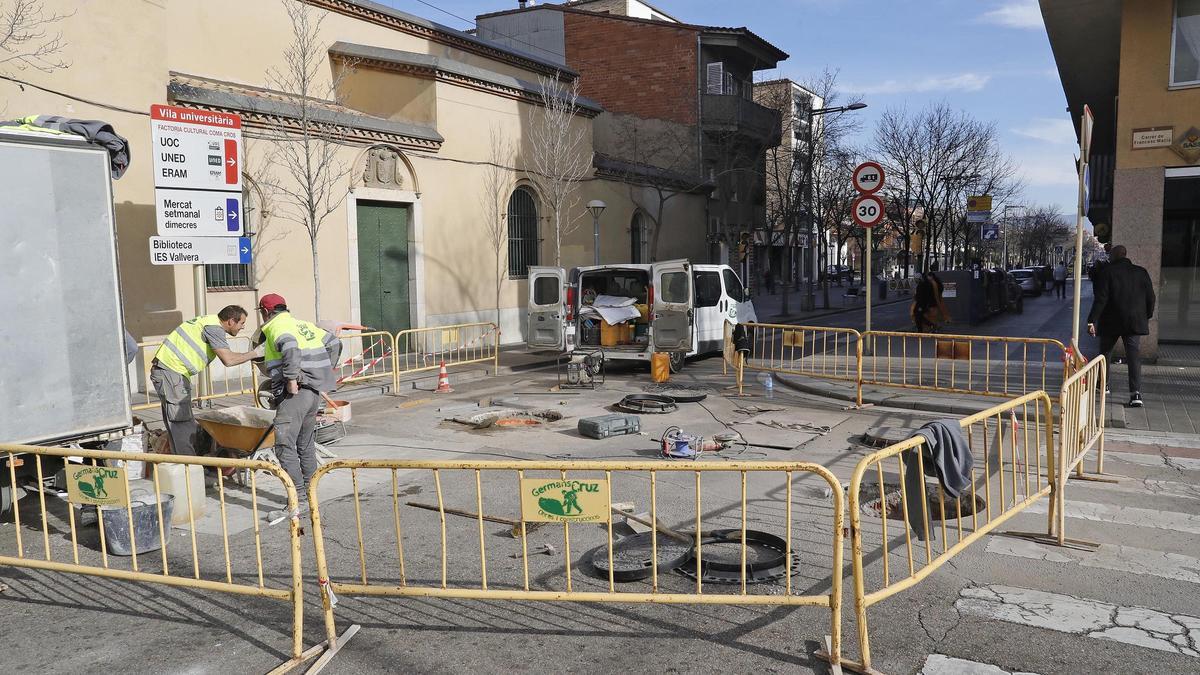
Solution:
<path fill-rule="evenodd" d="M 196 454 L 199 428 L 192 417 L 192 381 L 214 358 L 226 368 L 244 364 L 258 351 L 229 350 L 229 336 L 238 335 L 246 325 L 247 312 L 229 305 L 215 315 L 185 321 L 167 335 L 154 356 L 150 382 L 162 401 L 162 419 L 170 435 L 172 452 L 176 455 Z"/>

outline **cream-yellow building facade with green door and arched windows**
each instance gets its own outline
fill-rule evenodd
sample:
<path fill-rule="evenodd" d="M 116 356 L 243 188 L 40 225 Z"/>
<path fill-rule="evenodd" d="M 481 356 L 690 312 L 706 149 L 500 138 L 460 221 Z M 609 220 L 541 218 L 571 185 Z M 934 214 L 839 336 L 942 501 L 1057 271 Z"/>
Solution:
<path fill-rule="evenodd" d="M 272 89 L 294 42 L 283 0 L 47 0 L 62 14 L 67 67 L 12 72 L 0 80 L 8 117 L 100 119 L 131 145 L 132 163 L 114 183 L 124 307 L 139 339 L 163 335 L 197 313 L 193 270 L 150 264 L 156 234 L 150 107 L 156 103 L 236 113 L 242 118 L 244 221 L 253 263 L 210 265 L 209 311 L 253 306 L 280 293 L 298 316 L 371 321 L 400 330 L 498 321 L 504 342 L 523 340 L 524 267 L 554 264 L 551 210 L 530 180 L 530 130 L 544 108 L 539 78 L 575 77 L 536 56 L 484 42 L 420 17 L 359 0 L 306 0 L 319 22 L 320 59 L 310 125 L 337 141 L 331 211 L 313 246 L 298 222 L 280 144 L 304 125 L 294 97 Z M 572 129 L 590 163 L 592 126 L 600 113 L 581 100 Z M 485 215 L 492 138 L 515 151 L 503 162 L 500 244 L 505 269 L 496 311 L 496 246 Z M 636 208 L 631 187 L 589 171 L 565 214 L 564 267 L 593 261 L 593 222 L 584 204 L 601 199 L 602 262 L 629 258 Z M 635 187 L 636 190 L 636 187 Z M 704 199 L 672 199 L 660 257 L 706 255 Z M 692 225 L 697 228 L 691 233 Z M 514 256 L 508 253 L 512 251 Z M 32 282 L 32 281 L 31 281 Z"/>

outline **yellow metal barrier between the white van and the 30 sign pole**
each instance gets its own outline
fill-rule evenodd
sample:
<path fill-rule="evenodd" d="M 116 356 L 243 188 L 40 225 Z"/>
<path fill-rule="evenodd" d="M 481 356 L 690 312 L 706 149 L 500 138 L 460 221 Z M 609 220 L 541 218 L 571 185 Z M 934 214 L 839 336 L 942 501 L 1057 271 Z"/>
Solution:
<path fill-rule="evenodd" d="M 863 402 L 862 338 L 852 328 L 746 323 L 750 353 L 744 369 L 854 382 Z M 743 372 L 738 372 L 740 388 Z"/>

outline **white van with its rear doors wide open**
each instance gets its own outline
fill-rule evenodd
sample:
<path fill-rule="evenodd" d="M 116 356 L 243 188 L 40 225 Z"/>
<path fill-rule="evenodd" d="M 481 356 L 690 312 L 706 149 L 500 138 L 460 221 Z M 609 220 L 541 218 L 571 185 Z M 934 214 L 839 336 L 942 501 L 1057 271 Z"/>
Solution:
<path fill-rule="evenodd" d="M 526 344 L 535 350 L 602 348 L 608 359 L 647 363 L 667 352 L 678 372 L 686 357 L 721 351 L 726 323 L 754 321 L 730 265 L 604 264 L 569 276 L 563 268 L 529 268 Z"/>

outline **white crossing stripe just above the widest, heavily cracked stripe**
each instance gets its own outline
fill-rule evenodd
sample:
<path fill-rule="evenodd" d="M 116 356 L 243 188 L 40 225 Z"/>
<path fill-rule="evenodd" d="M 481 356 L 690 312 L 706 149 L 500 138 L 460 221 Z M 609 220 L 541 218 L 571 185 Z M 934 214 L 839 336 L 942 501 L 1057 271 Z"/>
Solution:
<path fill-rule="evenodd" d="M 1134 546 L 1102 544 L 1093 552 L 1081 552 L 1028 539 L 990 537 L 988 552 L 1200 584 L 1200 558 Z"/>

